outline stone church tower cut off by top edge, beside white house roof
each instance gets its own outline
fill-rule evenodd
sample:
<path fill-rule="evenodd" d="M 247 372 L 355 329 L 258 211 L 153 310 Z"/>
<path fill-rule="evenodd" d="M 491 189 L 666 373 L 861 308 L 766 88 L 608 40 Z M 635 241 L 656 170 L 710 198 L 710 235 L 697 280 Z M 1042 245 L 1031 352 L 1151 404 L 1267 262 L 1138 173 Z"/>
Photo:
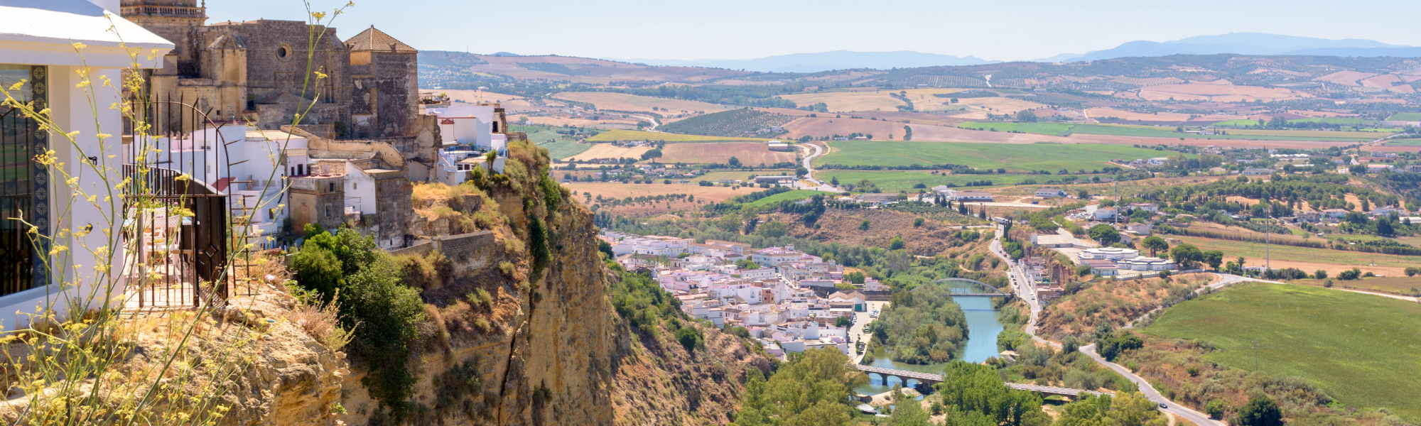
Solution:
<path fill-rule="evenodd" d="M 159 75 L 198 77 L 198 30 L 207 21 L 207 0 L 122 0 L 119 14 L 173 43 Z M 166 61 L 172 61 L 166 64 Z"/>

